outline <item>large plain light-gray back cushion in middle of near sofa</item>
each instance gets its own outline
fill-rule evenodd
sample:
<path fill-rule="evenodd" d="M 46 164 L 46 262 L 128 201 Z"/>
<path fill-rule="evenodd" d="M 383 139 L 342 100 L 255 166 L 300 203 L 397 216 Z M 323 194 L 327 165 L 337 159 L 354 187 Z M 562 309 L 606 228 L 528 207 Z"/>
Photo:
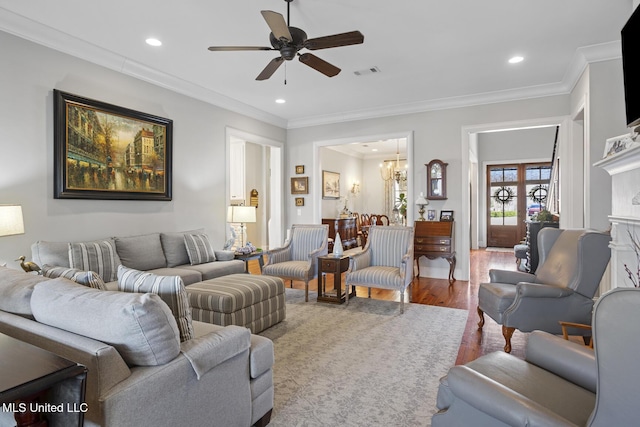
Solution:
<path fill-rule="evenodd" d="M 155 366 L 180 353 L 176 321 L 154 294 L 100 291 L 64 278 L 36 285 L 31 309 L 40 323 L 113 346 L 130 366 Z"/>

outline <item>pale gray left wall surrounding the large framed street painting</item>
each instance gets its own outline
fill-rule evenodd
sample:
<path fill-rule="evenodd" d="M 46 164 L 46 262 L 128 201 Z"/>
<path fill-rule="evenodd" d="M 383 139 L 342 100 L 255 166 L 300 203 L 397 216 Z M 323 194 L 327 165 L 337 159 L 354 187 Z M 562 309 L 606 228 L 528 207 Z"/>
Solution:
<path fill-rule="evenodd" d="M 36 240 L 87 240 L 204 227 L 225 240 L 225 126 L 285 141 L 284 129 L 0 32 L 0 204 L 21 204 L 25 234 L 0 237 L 0 264 Z M 173 120 L 173 200 L 53 198 L 53 89 Z"/>

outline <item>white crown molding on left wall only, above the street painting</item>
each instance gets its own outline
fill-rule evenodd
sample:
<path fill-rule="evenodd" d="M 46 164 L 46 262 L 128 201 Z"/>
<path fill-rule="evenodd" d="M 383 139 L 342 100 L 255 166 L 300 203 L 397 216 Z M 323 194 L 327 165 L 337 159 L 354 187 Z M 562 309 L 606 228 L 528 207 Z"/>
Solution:
<path fill-rule="evenodd" d="M 72 37 L 4 8 L 0 8 L 0 30 L 229 111 L 281 128 L 287 127 L 287 121 L 282 117 L 275 116 L 175 76 L 159 72 L 130 58 Z"/>

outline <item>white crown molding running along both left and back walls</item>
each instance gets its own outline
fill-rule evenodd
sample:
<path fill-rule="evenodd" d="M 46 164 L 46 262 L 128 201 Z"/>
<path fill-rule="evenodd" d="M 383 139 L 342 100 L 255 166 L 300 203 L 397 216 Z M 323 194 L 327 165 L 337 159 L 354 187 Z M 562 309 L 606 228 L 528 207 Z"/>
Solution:
<path fill-rule="evenodd" d="M 285 129 L 296 129 L 355 120 L 422 113 L 426 111 L 470 107 L 475 105 L 517 101 L 545 96 L 566 95 L 573 90 L 589 63 L 621 57 L 620 41 L 585 46 L 576 50 L 567 72 L 563 76 L 562 81 L 558 83 L 442 98 L 409 104 L 389 105 L 322 116 L 303 117 L 287 121 L 282 117 L 252 107 L 248 104 L 179 79 L 175 76 L 162 73 L 133 61 L 130 58 L 123 57 L 109 50 L 87 43 L 84 40 L 77 39 L 54 28 L 37 23 L 4 8 L 0 8 L 0 11 L 0 30 L 2 31 L 191 98 L 195 98 Z"/>

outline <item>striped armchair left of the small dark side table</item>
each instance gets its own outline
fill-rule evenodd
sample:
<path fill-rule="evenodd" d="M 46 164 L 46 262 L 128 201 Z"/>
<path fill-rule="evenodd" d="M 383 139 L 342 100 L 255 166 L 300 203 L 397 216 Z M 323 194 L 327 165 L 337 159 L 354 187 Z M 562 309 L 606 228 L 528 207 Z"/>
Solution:
<path fill-rule="evenodd" d="M 309 301 L 309 281 L 318 275 L 318 257 L 328 253 L 329 226 L 326 224 L 291 226 L 285 245 L 267 252 L 262 274 L 304 282 L 304 300 Z"/>

